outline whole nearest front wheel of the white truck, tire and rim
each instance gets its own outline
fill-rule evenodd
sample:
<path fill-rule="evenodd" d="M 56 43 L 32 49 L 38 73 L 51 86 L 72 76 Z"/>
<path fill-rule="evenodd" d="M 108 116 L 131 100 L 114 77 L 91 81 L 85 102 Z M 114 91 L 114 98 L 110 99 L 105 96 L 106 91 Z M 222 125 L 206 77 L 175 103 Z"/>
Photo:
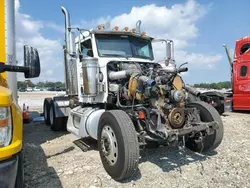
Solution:
<path fill-rule="evenodd" d="M 114 180 L 133 176 L 139 163 L 139 143 L 134 124 L 124 111 L 110 110 L 102 114 L 98 148 L 104 169 Z"/>

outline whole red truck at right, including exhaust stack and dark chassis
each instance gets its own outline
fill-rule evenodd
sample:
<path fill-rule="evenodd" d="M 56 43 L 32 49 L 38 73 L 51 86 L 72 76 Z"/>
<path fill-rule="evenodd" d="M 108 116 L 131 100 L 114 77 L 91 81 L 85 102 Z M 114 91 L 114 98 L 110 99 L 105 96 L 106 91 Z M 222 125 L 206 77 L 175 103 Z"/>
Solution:
<path fill-rule="evenodd" d="M 219 114 L 225 111 L 248 111 L 250 110 L 250 36 L 236 40 L 233 60 L 227 46 L 225 44 L 223 46 L 230 64 L 232 89 L 225 93 L 192 92 L 190 100 L 207 102 L 214 106 Z"/>

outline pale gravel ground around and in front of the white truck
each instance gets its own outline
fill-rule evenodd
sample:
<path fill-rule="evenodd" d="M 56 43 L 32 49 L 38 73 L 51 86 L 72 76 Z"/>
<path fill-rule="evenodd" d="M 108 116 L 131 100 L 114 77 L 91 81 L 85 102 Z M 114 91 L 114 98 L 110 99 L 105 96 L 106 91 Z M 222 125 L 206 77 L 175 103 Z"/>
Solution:
<path fill-rule="evenodd" d="M 26 187 L 250 187 L 250 115 L 222 117 L 224 140 L 206 156 L 178 147 L 141 151 L 137 175 L 124 183 L 104 171 L 96 143 L 88 151 L 67 132 L 41 123 L 24 125 Z"/>

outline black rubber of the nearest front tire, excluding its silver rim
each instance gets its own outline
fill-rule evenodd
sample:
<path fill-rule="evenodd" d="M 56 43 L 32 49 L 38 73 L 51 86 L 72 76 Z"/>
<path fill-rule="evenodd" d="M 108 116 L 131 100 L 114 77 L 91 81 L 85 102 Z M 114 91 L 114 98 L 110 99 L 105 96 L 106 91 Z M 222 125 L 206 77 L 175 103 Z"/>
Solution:
<path fill-rule="evenodd" d="M 105 125 L 111 127 L 117 140 L 118 154 L 113 165 L 108 163 L 102 150 L 101 134 Z M 98 149 L 104 169 L 114 180 L 122 181 L 134 175 L 139 164 L 139 143 L 134 124 L 124 111 L 110 110 L 102 114 L 98 126 Z"/>

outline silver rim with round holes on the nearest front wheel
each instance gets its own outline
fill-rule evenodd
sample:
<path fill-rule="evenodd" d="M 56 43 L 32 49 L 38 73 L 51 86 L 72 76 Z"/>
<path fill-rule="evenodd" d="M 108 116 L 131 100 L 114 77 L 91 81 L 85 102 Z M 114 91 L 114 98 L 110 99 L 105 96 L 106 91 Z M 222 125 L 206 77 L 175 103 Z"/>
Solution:
<path fill-rule="evenodd" d="M 105 125 L 101 133 L 101 150 L 106 162 L 113 166 L 118 158 L 118 144 L 115 133 L 109 125 Z"/>

